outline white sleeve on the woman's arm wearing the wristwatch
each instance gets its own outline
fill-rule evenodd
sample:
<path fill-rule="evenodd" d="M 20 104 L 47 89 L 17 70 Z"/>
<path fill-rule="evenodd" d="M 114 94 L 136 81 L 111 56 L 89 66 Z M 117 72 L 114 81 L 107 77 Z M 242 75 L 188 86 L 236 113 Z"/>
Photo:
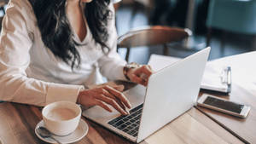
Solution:
<path fill-rule="evenodd" d="M 112 15 L 114 15 L 113 4 L 109 5 L 109 9 L 112 11 Z M 99 62 L 100 71 L 103 76 L 107 77 L 110 80 L 126 80 L 123 74 L 123 68 L 126 64 L 126 61 L 123 60 L 119 54 L 117 53 L 117 32 L 115 27 L 115 19 L 114 16 L 108 22 L 108 46 L 110 51 L 108 55 L 103 55 Z"/>

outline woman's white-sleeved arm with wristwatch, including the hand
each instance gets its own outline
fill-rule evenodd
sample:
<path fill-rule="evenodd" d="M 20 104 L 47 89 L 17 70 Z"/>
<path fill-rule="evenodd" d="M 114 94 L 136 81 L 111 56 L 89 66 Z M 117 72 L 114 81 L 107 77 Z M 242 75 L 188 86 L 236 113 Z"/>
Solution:
<path fill-rule="evenodd" d="M 116 50 L 118 37 L 115 27 L 113 4 L 110 4 L 109 9 L 113 12 L 113 18 L 109 20 L 108 24 L 108 45 L 110 52 L 98 60 L 102 75 L 111 80 L 130 80 L 131 82 L 146 86 L 148 84 L 148 78 L 152 74 L 151 67 L 144 65 L 127 68 L 126 61 L 120 58 Z"/>

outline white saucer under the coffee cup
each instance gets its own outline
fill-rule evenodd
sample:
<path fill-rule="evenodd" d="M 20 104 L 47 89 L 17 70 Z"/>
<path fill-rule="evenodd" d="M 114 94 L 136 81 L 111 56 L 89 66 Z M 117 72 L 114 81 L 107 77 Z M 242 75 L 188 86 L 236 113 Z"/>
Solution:
<path fill-rule="evenodd" d="M 45 127 L 43 120 L 41 120 L 35 128 L 35 133 L 38 136 L 38 138 L 45 142 L 56 143 L 56 141 L 54 141 L 53 139 L 51 139 L 49 137 L 44 138 L 44 137 L 40 136 L 37 132 L 37 129 L 39 126 Z M 58 141 L 60 141 L 63 144 L 73 143 L 73 142 L 81 140 L 87 134 L 88 130 L 89 130 L 89 127 L 86 124 L 86 122 L 83 119 L 80 119 L 78 128 L 76 130 L 74 130 L 72 134 L 66 135 L 66 136 L 57 136 L 57 135 L 53 135 L 53 136 L 55 137 L 55 139 L 57 139 Z"/>

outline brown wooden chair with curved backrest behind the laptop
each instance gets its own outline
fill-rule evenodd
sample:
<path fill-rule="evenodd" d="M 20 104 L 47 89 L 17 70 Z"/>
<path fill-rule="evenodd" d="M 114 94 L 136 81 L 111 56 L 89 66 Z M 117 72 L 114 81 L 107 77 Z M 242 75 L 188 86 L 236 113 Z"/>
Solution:
<path fill-rule="evenodd" d="M 169 26 L 149 26 L 132 30 L 118 38 L 118 49 L 126 48 L 125 60 L 129 60 L 130 49 L 132 47 L 153 46 L 162 44 L 163 55 L 168 55 L 168 43 L 179 42 L 192 35 L 189 29 L 169 27 Z"/>

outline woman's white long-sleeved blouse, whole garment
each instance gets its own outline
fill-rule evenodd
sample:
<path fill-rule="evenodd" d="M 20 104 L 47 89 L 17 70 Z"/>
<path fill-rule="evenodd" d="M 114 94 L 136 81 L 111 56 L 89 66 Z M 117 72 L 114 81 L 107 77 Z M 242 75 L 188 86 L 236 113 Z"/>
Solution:
<path fill-rule="evenodd" d="M 113 4 L 109 5 L 113 11 Z M 44 106 L 54 101 L 77 101 L 86 85 L 101 84 L 102 76 L 123 79 L 122 60 L 116 52 L 114 16 L 108 23 L 108 55 L 102 53 L 87 26 L 81 46 L 79 69 L 58 59 L 44 46 L 32 6 L 27 0 L 10 0 L 0 37 L 0 100 Z M 60 42 L 61 43 L 61 42 Z"/>

